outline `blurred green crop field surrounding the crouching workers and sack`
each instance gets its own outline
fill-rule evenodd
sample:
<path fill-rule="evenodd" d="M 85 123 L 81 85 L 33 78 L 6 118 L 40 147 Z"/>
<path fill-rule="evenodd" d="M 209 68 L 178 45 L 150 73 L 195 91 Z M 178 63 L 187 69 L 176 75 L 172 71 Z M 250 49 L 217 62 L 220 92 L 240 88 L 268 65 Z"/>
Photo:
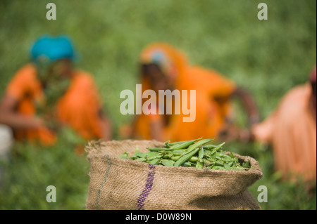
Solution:
<path fill-rule="evenodd" d="M 57 20 L 46 20 L 49 2 L 56 4 Z M 268 20 L 257 18 L 260 2 L 268 5 Z M 316 63 L 316 1 L 2 0 L 0 95 L 42 34 L 73 39 L 80 53 L 76 65 L 94 75 L 119 139 L 120 125 L 132 120 L 120 114 L 120 91 L 135 89 L 139 52 L 152 41 L 173 44 L 192 64 L 235 80 L 254 95 L 261 117 L 267 117 L 282 95 L 306 82 Z M 237 111 L 243 124 L 244 114 Z M 78 142 L 66 130 L 54 147 L 15 143 L 10 161 L 1 162 L 0 209 L 85 209 L 89 162 L 74 153 Z M 226 149 L 259 161 L 264 176 L 249 190 L 257 197 L 260 185 L 268 187 L 262 209 L 316 209 L 316 190 L 307 194 L 302 183 L 280 180 L 271 147 L 230 143 Z M 46 202 L 48 185 L 56 187 L 56 203 Z"/>

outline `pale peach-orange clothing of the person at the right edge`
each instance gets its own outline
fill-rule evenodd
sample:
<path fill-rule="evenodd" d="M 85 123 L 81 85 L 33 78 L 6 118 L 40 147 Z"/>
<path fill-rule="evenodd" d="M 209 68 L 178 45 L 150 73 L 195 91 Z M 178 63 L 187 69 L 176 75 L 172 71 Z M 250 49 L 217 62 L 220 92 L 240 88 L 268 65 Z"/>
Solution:
<path fill-rule="evenodd" d="M 316 121 L 310 97 L 310 84 L 293 88 L 278 109 L 253 128 L 257 140 L 273 145 L 275 169 L 284 178 L 291 174 L 316 180 Z"/>

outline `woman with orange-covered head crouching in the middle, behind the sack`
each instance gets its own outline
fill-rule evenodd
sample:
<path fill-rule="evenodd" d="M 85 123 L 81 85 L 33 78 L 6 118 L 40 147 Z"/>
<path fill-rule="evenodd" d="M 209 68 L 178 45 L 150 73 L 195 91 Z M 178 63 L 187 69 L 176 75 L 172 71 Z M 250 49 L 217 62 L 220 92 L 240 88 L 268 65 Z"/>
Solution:
<path fill-rule="evenodd" d="M 150 44 L 140 55 L 142 90 L 152 89 L 159 95 L 159 90 L 190 90 L 196 91 L 195 113 L 192 122 L 184 122 L 187 117 L 182 110 L 176 114 L 175 99 L 173 99 L 173 113 L 166 113 L 166 105 L 157 103 L 156 108 L 149 108 L 149 115 L 140 114 L 133 122 L 135 138 L 156 140 L 190 140 L 194 138 L 216 138 L 232 127 L 232 109 L 230 99 L 234 95 L 241 97 L 250 117 L 250 124 L 258 121 L 258 110 L 251 96 L 233 81 L 223 77 L 214 70 L 192 66 L 185 55 L 165 43 Z M 190 104 L 190 97 L 187 105 Z M 147 100 L 147 99 L 143 99 Z M 156 102 L 159 102 L 157 99 Z M 144 103 L 144 102 L 143 102 Z M 159 110 L 162 110 L 158 114 Z M 162 114 L 163 113 L 163 114 Z"/>

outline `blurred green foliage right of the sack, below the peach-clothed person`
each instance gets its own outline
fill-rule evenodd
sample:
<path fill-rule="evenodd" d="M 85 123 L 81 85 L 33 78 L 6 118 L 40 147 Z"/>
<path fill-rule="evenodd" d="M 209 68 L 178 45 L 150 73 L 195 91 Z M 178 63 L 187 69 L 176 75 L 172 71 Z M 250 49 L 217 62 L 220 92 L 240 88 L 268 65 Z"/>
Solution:
<path fill-rule="evenodd" d="M 316 210 L 316 187 L 307 191 L 304 182 L 299 178 L 297 183 L 281 179 L 281 174 L 274 170 L 273 149 L 266 145 L 253 143 L 230 143 L 227 145 L 232 152 L 254 157 L 262 169 L 263 178 L 249 187 L 257 199 L 261 191 L 258 187 L 264 185 L 268 189 L 268 202 L 259 203 L 265 210 Z M 316 185 L 315 185 L 316 186 Z"/>

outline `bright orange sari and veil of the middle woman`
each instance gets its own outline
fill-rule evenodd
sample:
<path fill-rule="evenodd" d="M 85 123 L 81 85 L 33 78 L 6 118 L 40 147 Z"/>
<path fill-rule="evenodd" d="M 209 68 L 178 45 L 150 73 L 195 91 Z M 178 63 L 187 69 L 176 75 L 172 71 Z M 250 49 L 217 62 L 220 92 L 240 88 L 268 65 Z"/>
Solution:
<path fill-rule="evenodd" d="M 235 84 L 216 71 L 189 65 L 185 55 L 168 44 L 150 44 L 142 51 L 140 60 L 147 62 L 149 52 L 157 51 L 158 49 L 168 55 L 169 63 L 165 70 L 171 71 L 168 75 L 171 76 L 175 89 L 180 92 L 187 90 L 188 101 L 189 91 L 196 90 L 196 119 L 193 122 L 183 122 L 182 118 L 188 117 L 188 115 L 183 114 L 182 110 L 180 110 L 180 114 L 173 113 L 170 116 L 169 124 L 161 133 L 163 138 L 178 141 L 200 137 L 216 137 L 220 129 L 223 128 L 225 117 L 229 115 L 230 104 L 225 102 L 220 105 L 214 100 L 214 97 L 228 97 L 235 90 Z M 149 81 L 146 79 L 142 79 L 141 84 L 142 91 L 151 89 Z M 156 96 L 159 97 L 158 93 L 156 93 Z M 156 102 L 159 102 L 159 100 L 156 100 Z M 187 105 L 189 107 L 189 102 Z M 175 108 L 173 108 L 174 110 Z M 149 126 L 151 122 L 154 122 L 152 117 L 157 121 L 158 119 L 163 119 L 163 116 L 166 115 L 138 115 L 135 123 L 136 136 L 150 139 Z"/>

